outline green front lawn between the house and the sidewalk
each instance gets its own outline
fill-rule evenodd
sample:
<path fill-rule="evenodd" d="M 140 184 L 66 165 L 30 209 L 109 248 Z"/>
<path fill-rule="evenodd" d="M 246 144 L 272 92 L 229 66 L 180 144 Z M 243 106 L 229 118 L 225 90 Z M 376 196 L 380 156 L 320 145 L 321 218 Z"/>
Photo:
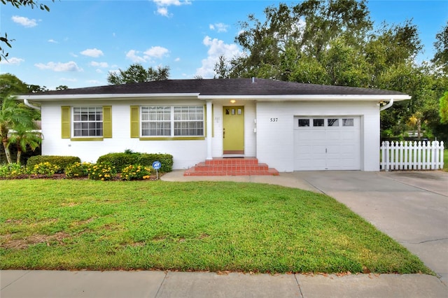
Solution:
<path fill-rule="evenodd" d="M 430 274 L 323 194 L 255 183 L 0 180 L 0 269 Z"/>

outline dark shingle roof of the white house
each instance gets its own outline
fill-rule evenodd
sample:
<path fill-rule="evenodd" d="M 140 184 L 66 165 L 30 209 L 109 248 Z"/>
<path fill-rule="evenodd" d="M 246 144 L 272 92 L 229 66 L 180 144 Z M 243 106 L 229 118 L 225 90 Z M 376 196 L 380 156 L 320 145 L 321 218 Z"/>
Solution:
<path fill-rule="evenodd" d="M 200 95 L 405 95 L 402 92 L 358 87 L 315 85 L 279 80 L 255 78 L 159 80 L 125 85 L 106 85 L 59 91 L 43 92 L 57 94 L 176 94 L 199 93 Z M 33 94 L 38 95 L 38 94 Z"/>

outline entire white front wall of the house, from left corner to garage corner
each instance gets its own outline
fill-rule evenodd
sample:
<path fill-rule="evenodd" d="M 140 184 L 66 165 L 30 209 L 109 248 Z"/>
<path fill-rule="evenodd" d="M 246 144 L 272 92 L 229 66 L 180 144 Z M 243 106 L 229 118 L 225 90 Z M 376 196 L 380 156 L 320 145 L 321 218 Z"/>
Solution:
<path fill-rule="evenodd" d="M 130 106 L 151 104 L 204 105 L 204 101 L 95 101 L 96 106 L 112 106 L 112 138 L 103 141 L 72 141 L 61 138 L 61 106 L 87 106 L 92 101 L 47 101 L 42 104 L 42 154 L 78 156 L 96 162 L 109 152 L 169 153 L 174 169 L 188 169 L 207 158 L 207 139 L 190 141 L 140 141 L 130 138 Z M 229 101 L 214 101 L 212 156 L 223 156 L 223 106 Z M 331 101 L 239 101 L 244 106 L 245 156 L 258 157 L 278 171 L 294 171 L 294 116 L 360 116 L 360 169 L 379 171 L 379 107 L 376 102 Z M 255 120 L 256 119 L 256 123 Z M 256 129 L 256 132 L 254 132 Z M 207 136 L 211 137 L 211 136 Z"/>

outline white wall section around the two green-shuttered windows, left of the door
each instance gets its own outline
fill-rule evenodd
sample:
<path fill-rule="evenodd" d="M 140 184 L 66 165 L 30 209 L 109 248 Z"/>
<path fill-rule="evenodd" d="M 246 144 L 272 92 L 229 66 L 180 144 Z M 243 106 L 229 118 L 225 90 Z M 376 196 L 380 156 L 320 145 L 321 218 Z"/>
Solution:
<path fill-rule="evenodd" d="M 188 169 L 207 156 L 206 140 L 140 141 L 130 138 L 130 106 L 146 105 L 132 101 L 101 101 L 97 106 L 112 106 L 112 138 L 103 141 L 72 141 L 61 138 L 61 106 L 92 106 L 87 101 L 46 102 L 42 105 L 42 155 L 77 156 L 83 162 L 96 162 L 98 157 L 110 152 L 168 153 L 174 157 L 174 169 Z M 161 104 L 152 101 L 151 104 Z M 166 103 L 165 103 L 166 104 Z M 170 101 L 170 104 L 204 104 L 204 101 Z"/>

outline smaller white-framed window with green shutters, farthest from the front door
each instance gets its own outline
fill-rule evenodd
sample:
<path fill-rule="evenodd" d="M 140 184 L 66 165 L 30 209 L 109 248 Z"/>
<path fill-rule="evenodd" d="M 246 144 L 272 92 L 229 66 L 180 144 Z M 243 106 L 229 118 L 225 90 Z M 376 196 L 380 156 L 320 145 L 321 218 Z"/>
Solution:
<path fill-rule="evenodd" d="M 102 106 L 73 107 L 73 136 L 103 136 Z"/>

